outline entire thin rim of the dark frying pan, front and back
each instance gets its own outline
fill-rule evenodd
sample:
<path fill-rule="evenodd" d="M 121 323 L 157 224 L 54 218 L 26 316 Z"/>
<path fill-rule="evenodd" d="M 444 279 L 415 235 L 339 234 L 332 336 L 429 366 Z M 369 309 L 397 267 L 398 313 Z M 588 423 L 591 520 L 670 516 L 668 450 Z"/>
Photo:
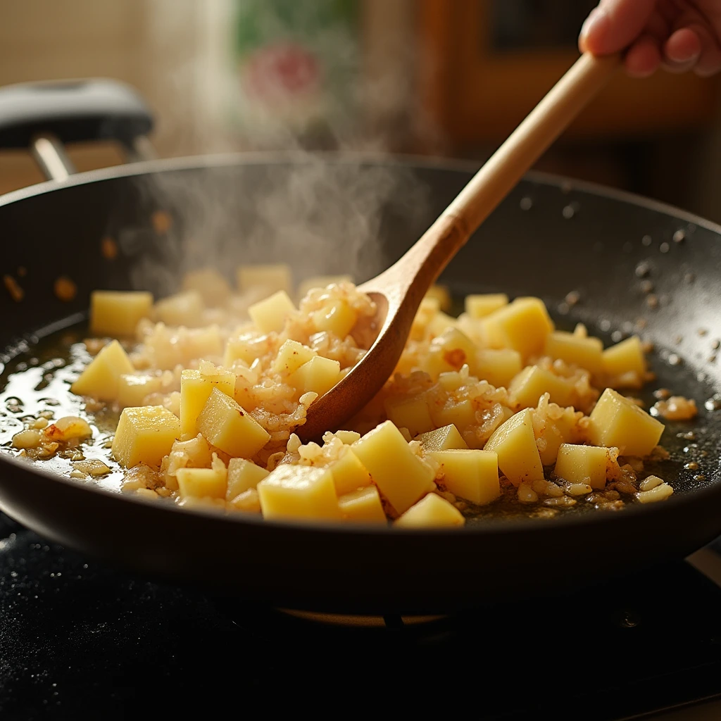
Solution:
<path fill-rule="evenodd" d="M 63 190 L 67 187 L 74 187 L 76 185 L 87 185 L 92 182 L 102 182 L 105 180 L 114 180 L 120 177 L 136 177 L 145 174 L 151 174 L 156 172 L 173 172 L 184 169 L 203 169 L 203 168 L 214 168 L 214 167 L 230 167 L 234 165 L 247 165 L 252 166 L 254 164 L 286 164 L 288 162 L 302 162 L 305 160 L 309 161 L 311 157 L 314 158 L 327 158 L 330 162 L 367 162 L 374 164 L 403 164 L 405 167 L 416 167 L 416 168 L 428 168 L 428 169 L 448 169 L 451 171 L 463 171 L 463 172 L 474 172 L 480 167 L 480 164 L 472 161 L 459 160 L 459 159 L 447 159 L 436 156 L 417 156 L 417 155 L 404 155 L 404 154 L 379 154 L 370 152 L 337 152 L 327 151 L 309 154 L 307 152 L 247 152 L 247 153 L 235 153 L 235 154 L 210 154 L 201 156 L 185 156 L 181 158 L 172 159 L 159 159 L 136 162 L 132 164 L 125 164 L 121 166 L 115 166 L 110 168 L 103 168 L 97 170 L 91 170 L 78 174 L 71 175 L 66 180 L 62 181 L 46 181 L 36 185 L 31 185 L 19 190 L 14 190 L 5 195 L 0 195 L 0 208 L 10 203 L 16 203 L 26 198 L 32 198 L 37 195 L 43 195 L 44 193 L 56 192 Z M 587 182 L 582 180 L 574 180 L 572 178 L 564 177 L 557 174 L 544 173 L 544 172 L 530 172 L 526 175 L 526 180 L 542 185 L 557 186 L 559 188 L 569 186 L 571 190 L 581 190 L 599 195 L 604 198 L 612 200 L 620 200 L 625 203 L 638 205 L 642 208 L 647 208 L 650 211 L 665 213 L 671 215 L 680 220 L 695 224 L 696 226 L 704 227 L 709 231 L 721 236 L 721 225 L 715 224 L 712 221 L 707 221 L 705 218 L 696 216 L 694 213 L 687 213 L 679 208 L 675 208 L 667 203 L 662 203 L 658 200 L 645 198 L 641 195 L 634 193 L 628 193 L 624 190 L 617 190 L 605 185 L 596 184 L 593 182 Z M 596 523 L 606 523 L 611 528 L 612 523 L 627 523 L 624 519 L 631 519 L 639 514 L 644 513 L 664 513 L 676 515 L 676 508 L 678 513 L 682 512 L 682 508 L 689 506 L 698 505 L 701 503 L 707 503 L 712 499 L 715 499 L 717 495 L 721 496 L 721 482 L 713 482 L 709 487 L 695 490 L 671 499 L 671 505 L 666 503 L 652 504 L 650 507 L 646 507 L 642 504 L 630 505 L 624 508 L 622 513 L 601 513 L 600 511 L 589 512 L 589 513 L 569 513 L 563 514 L 560 517 L 553 519 L 544 518 L 512 518 L 502 519 L 495 518 L 480 523 L 471 523 L 462 528 L 453 529 L 402 529 L 397 531 L 393 526 L 372 526 L 368 524 L 353 524 L 344 525 L 340 523 L 324 523 L 322 521 L 264 521 L 262 518 L 257 518 L 248 514 L 247 517 L 240 516 L 239 514 L 228 514 L 221 515 L 218 511 L 203 508 L 173 508 L 169 503 L 158 503 L 155 500 L 143 499 L 142 497 L 136 497 L 133 495 L 125 494 L 122 491 L 110 490 L 97 485 L 91 485 L 89 482 L 81 483 L 74 479 L 63 477 L 59 474 L 49 472 L 42 468 L 31 467 L 27 461 L 17 459 L 14 456 L 6 454 L 0 454 L 0 470 L 3 466 L 10 466 L 14 469 L 14 472 L 19 474 L 28 474 L 30 476 L 40 476 L 48 479 L 51 482 L 61 482 L 68 488 L 74 489 L 74 492 L 84 493 L 99 493 L 107 498 L 112 498 L 115 501 L 122 503 L 135 503 L 141 504 L 146 508 L 154 508 L 155 513 L 190 513 L 192 516 L 200 516 L 202 518 L 212 518 L 216 523 L 223 523 L 224 525 L 231 523 L 234 525 L 250 525 L 250 526 L 262 526 L 268 532 L 271 532 L 274 528 L 278 528 L 281 531 L 293 530 L 298 533 L 304 534 L 338 534 L 342 533 L 344 536 L 366 536 L 372 533 L 374 536 L 386 536 L 389 537 L 420 537 L 420 536 L 433 536 L 434 538 L 439 537 L 466 537 L 472 535 L 495 535 L 495 534 L 507 534 L 507 533 L 525 533 L 525 534 L 536 534 L 544 531 L 552 531 L 559 528 L 565 527 L 577 527 L 579 525 L 595 525 Z M 12 515 L 12 514 L 11 514 Z M 179 516 L 180 518 L 180 516 Z"/>

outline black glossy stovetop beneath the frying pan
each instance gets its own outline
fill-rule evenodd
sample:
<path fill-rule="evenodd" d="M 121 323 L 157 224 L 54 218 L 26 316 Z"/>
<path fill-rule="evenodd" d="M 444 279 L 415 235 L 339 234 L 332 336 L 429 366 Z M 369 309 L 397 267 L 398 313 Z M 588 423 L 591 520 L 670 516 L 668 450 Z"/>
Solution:
<path fill-rule="evenodd" d="M 478 719 L 665 719 L 672 707 L 700 719 L 684 704 L 721 696 L 721 588 L 687 562 L 416 620 L 346 627 L 152 583 L 0 514 L 3 721 L 270 713 L 288 702 L 348 715 L 388 699 Z"/>

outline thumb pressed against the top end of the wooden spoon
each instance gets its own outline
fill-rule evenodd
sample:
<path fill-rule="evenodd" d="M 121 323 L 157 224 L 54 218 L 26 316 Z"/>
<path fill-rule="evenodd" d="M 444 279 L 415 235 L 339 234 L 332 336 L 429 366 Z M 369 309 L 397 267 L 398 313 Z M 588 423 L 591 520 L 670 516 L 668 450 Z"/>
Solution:
<path fill-rule="evenodd" d="M 624 50 L 641 34 L 656 0 L 601 0 L 583 23 L 578 47 L 593 55 Z"/>

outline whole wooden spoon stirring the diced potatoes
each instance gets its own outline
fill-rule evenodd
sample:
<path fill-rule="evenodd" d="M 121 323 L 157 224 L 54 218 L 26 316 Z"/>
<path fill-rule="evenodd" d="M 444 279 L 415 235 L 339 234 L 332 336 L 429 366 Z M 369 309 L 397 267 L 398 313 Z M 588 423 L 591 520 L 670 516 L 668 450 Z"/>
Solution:
<path fill-rule="evenodd" d="M 596 58 L 588 53 L 581 56 L 420 240 L 384 273 L 358 286 L 378 306 L 373 323 L 377 337 L 350 373 L 309 407 L 306 423 L 297 430 L 301 438 L 319 438 L 326 430 L 340 428 L 379 392 L 401 357 L 428 288 L 523 174 L 601 90 L 620 58 Z"/>

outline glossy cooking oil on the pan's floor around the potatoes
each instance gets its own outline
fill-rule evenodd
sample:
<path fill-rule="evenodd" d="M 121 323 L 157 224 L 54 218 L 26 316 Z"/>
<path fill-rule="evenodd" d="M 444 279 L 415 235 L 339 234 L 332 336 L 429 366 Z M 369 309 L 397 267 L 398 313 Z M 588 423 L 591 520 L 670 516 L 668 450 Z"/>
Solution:
<path fill-rule="evenodd" d="M 572 306 L 574 298 L 568 297 L 560 304 L 561 313 L 554 319 L 560 328 L 574 326 Z M 454 304 L 456 310 L 461 309 Z M 606 344 L 617 342 L 619 332 L 611 330 L 608 322 L 599 322 L 597 328 L 589 328 L 593 335 L 603 338 Z M 0 451 L 18 455 L 12 448 L 12 436 L 25 428 L 25 424 L 41 417 L 50 422 L 66 415 L 86 419 L 92 427 L 92 438 L 76 448 L 34 461 L 44 469 L 65 477 L 71 476 L 78 461 L 97 459 L 103 461 L 109 471 L 97 477 L 78 478 L 85 482 L 120 492 L 123 484 L 123 470 L 110 456 L 110 443 L 118 422 L 118 410 L 108 407 L 86 407 L 83 399 L 70 392 L 70 384 L 91 360 L 84 344 L 87 327 L 79 324 L 48 336 L 35 348 L 16 355 L 6 364 L 0 375 Z M 719 476 L 719 446 L 721 439 L 721 400 L 715 396 L 715 389 L 699 381 L 696 374 L 685 368 L 679 359 L 669 363 L 673 351 L 652 353 L 649 357 L 656 380 L 637 393 L 637 397 L 649 409 L 655 403 L 653 392 L 658 388 L 671 389 L 673 394 L 684 395 L 696 400 L 699 415 L 693 421 L 665 421 L 661 443 L 668 451 L 668 459 L 644 462 L 644 475 L 655 474 L 663 478 L 676 494 L 689 492 L 717 482 Z M 664 357 L 662 357 L 664 356 Z M 704 401 L 709 401 L 704 405 Z M 81 474 L 75 473 L 74 476 Z M 565 496 L 564 496 L 565 497 Z M 557 505 L 552 499 L 533 505 L 518 500 L 516 488 L 505 485 L 503 495 L 494 503 L 483 506 L 469 506 L 464 510 L 471 522 L 488 518 L 552 518 L 559 514 L 610 512 L 622 510 L 627 503 L 633 503 L 630 496 L 622 495 L 624 503 L 599 503 L 597 494 L 575 497 L 572 505 Z M 673 501 L 673 497 L 671 499 Z M 169 503 L 158 499 L 157 503 Z M 598 510 L 603 509 L 603 510 Z"/>

